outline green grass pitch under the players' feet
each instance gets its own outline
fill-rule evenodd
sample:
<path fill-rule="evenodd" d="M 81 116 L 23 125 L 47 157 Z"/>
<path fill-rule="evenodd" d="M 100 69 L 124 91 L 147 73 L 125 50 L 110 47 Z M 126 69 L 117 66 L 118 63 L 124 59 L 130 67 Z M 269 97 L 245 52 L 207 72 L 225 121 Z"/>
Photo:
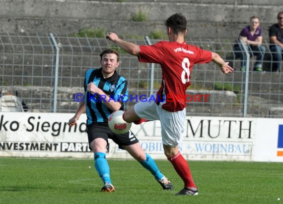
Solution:
<path fill-rule="evenodd" d="M 173 183 L 164 191 L 135 160 L 108 160 L 116 191 L 102 193 L 92 159 L 0 157 L 0 204 L 280 204 L 283 163 L 189 161 L 198 196 L 175 196 L 183 182 L 157 160 Z M 91 166 L 91 168 L 89 168 Z M 281 201 L 278 201 L 281 198 Z"/>

